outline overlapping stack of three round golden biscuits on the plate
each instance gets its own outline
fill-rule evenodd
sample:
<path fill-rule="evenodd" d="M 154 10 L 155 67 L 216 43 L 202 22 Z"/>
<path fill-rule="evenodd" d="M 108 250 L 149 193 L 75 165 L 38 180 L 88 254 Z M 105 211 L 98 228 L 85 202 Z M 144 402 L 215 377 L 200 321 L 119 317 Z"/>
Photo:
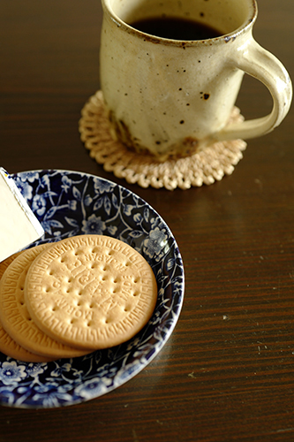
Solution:
<path fill-rule="evenodd" d="M 0 350 L 26 362 L 76 357 L 131 339 L 152 316 L 155 275 L 133 248 L 81 235 L 0 263 Z"/>

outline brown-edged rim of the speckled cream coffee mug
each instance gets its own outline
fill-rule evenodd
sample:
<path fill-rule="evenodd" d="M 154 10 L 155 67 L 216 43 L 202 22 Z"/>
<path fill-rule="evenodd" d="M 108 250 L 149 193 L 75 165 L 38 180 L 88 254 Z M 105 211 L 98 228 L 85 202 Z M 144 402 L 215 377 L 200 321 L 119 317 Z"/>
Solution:
<path fill-rule="evenodd" d="M 139 31 L 139 29 L 136 29 L 135 27 L 132 27 L 131 25 L 127 24 L 123 19 L 120 19 L 117 14 L 112 10 L 110 6 L 111 0 L 102 0 L 102 8 L 104 13 L 107 13 L 109 16 L 109 19 L 111 19 L 114 24 L 119 27 L 122 31 L 132 34 L 136 37 L 139 37 L 143 40 L 146 40 L 148 42 L 154 42 L 157 44 L 166 44 L 169 46 L 179 46 L 179 47 L 187 47 L 187 46 L 196 46 L 196 45 L 211 45 L 212 43 L 228 43 L 230 41 L 235 41 L 237 36 L 240 34 L 245 34 L 248 29 L 253 27 L 254 22 L 257 19 L 258 15 L 258 5 L 256 0 L 246 0 L 247 2 L 251 3 L 252 12 L 249 13 L 248 18 L 245 20 L 245 22 L 240 26 L 237 27 L 234 31 L 228 33 L 228 34 L 222 34 L 217 37 L 213 38 L 207 38 L 205 40 L 174 40 L 170 38 L 165 37 L 159 37 L 157 35 L 153 34 L 147 34 L 145 32 Z"/>

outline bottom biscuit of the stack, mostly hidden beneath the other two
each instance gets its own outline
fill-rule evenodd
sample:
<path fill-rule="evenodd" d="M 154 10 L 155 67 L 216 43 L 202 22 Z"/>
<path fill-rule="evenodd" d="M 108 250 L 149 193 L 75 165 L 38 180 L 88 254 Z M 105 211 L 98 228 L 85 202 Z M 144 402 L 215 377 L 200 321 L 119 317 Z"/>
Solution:
<path fill-rule="evenodd" d="M 9 256 L 4 261 L 0 263 L 0 279 L 4 275 L 4 271 L 9 267 L 9 265 L 14 261 L 14 259 L 19 256 L 21 252 Z M 15 342 L 14 339 L 4 330 L 2 324 L 0 323 L 0 352 L 10 356 L 11 358 L 18 359 L 19 361 L 25 362 L 49 362 L 49 358 L 45 356 L 40 356 L 39 354 L 34 354 L 28 352 L 25 348 L 20 347 L 19 344 Z"/>

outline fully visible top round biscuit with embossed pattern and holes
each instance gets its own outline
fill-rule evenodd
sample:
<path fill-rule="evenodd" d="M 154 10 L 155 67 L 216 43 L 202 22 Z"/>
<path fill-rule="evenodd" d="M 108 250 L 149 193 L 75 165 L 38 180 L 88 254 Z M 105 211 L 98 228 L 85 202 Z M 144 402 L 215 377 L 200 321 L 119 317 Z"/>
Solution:
<path fill-rule="evenodd" d="M 26 303 L 53 339 L 91 350 L 131 339 L 152 316 L 154 272 L 121 240 L 80 235 L 52 244 L 31 265 Z"/>

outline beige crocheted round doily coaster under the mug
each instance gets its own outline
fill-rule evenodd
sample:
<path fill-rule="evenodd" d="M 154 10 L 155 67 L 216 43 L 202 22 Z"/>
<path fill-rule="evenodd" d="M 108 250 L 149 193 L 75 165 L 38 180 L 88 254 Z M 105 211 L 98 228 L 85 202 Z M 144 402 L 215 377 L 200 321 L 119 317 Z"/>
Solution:
<path fill-rule="evenodd" d="M 246 143 L 242 140 L 217 142 L 200 152 L 179 159 L 157 162 L 154 156 L 140 155 L 114 141 L 109 132 L 109 121 L 104 111 L 102 91 L 89 98 L 81 111 L 79 133 L 81 141 L 89 149 L 90 156 L 105 171 L 112 171 L 117 178 L 141 187 L 176 187 L 188 189 L 210 185 L 230 175 L 243 157 Z M 230 122 L 242 120 L 235 107 Z"/>

